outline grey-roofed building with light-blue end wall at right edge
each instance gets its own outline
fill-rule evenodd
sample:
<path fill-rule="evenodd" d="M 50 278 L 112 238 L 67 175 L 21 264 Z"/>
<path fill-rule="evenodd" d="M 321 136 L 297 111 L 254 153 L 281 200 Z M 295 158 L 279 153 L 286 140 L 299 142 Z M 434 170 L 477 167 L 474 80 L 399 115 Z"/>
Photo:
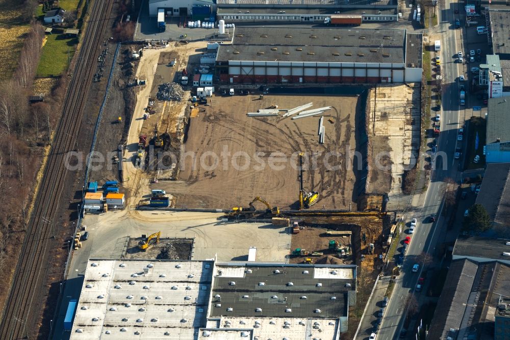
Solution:
<path fill-rule="evenodd" d="M 510 99 L 492 98 L 488 101 L 486 129 L 487 163 L 510 162 Z"/>

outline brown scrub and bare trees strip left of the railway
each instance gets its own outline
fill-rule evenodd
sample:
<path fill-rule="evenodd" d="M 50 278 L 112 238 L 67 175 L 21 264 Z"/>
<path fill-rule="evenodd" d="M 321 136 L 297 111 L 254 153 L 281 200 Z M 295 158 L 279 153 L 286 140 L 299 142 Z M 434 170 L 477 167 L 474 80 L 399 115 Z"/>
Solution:
<path fill-rule="evenodd" d="M 61 0 L 61 6 L 78 6 L 81 0 Z M 37 0 L 0 0 L 0 196 L 8 197 L 0 205 L 0 290 L 7 292 L 25 228 L 30 218 L 37 183 L 42 176 L 41 164 L 47 155 L 53 131 L 61 114 L 67 77 L 60 77 L 67 67 L 51 70 L 53 79 L 38 79 L 40 61 L 55 62 L 62 52 L 49 39 L 43 48 L 45 27 L 35 16 Z M 48 9 L 58 2 L 45 1 Z M 74 4 L 74 5 L 73 5 Z M 41 6 L 42 7 L 42 6 Z M 73 11 L 69 11 L 71 14 Z M 75 11 L 74 11 L 75 15 Z M 73 24 L 75 23 L 73 20 Z M 69 39 L 67 39 L 69 40 Z M 62 41 L 67 46 L 68 41 Z M 48 56 L 45 54 L 50 52 Z M 74 48 L 72 50 L 74 52 Z M 44 59 L 41 59 L 43 58 Z M 49 70 L 47 70 L 49 74 Z M 29 103 L 29 97 L 44 93 L 44 101 Z M 12 242 L 13 239 L 18 240 Z M 3 309 L 7 295 L 0 295 Z"/>

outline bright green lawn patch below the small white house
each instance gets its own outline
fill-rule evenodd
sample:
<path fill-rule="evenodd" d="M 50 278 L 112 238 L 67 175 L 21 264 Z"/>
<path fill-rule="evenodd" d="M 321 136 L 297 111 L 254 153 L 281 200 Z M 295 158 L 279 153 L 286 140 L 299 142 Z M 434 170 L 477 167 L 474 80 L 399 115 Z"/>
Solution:
<path fill-rule="evenodd" d="M 48 35 L 42 47 L 37 77 L 60 76 L 67 69 L 68 61 L 73 57 L 77 43 L 78 39 L 64 39 L 63 34 Z"/>

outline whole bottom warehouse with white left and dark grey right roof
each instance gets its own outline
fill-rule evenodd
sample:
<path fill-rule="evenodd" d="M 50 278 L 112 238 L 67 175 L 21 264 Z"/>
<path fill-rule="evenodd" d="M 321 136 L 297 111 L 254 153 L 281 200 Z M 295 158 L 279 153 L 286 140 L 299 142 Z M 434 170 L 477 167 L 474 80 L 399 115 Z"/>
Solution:
<path fill-rule="evenodd" d="M 355 302 L 355 265 L 91 259 L 70 338 L 333 340 Z"/>

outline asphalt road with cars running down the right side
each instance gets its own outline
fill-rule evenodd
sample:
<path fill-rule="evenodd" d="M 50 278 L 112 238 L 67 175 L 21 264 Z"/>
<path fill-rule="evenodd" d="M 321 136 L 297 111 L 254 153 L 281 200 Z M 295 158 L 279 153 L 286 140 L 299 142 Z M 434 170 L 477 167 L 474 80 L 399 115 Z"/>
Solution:
<path fill-rule="evenodd" d="M 465 75 L 465 66 L 457 63 L 453 57 L 457 51 L 464 51 L 465 49 L 462 48 L 461 41 L 463 30 L 454 30 L 452 25 L 455 18 L 464 21 L 462 5 L 447 0 L 445 8 L 439 10 L 443 95 L 441 133 L 438 139 L 438 152 L 433 164 L 435 171 L 432 174 L 423 206 L 414 211 L 413 215 L 406 216 L 408 219 L 402 237 L 411 236 L 411 244 L 404 256 L 402 273 L 395 282 L 392 298 L 385 310 L 384 319 L 377 335 L 378 340 L 398 338 L 404 323 L 407 297 L 409 294 L 414 294 L 418 299 L 419 295 L 423 294 L 423 292 L 415 292 L 418 278 L 423 270 L 419 255 L 422 252 L 432 254 L 439 235 L 446 229 L 444 218 L 439 218 L 435 223 L 431 223 L 429 217 L 432 214 L 439 215 L 444 180 L 448 177 L 456 179 L 458 171 L 458 160 L 453 158 L 453 154 L 457 145 L 461 147 L 461 142 L 457 141 L 457 132 L 463 126 L 465 118 L 464 107 L 459 105 L 458 76 Z M 461 14 L 454 14 L 454 8 L 458 8 Z M 431 55 L 433 56 L 433 53 Z M 431 61 L 424 60 L 424 62 Z M 430 145 L 427 148 L 429 149 Z M 409 235 L 407 229 L 412 217 L 418 219 L 418 225 L 415 232 Z M 401 246 L 397 248 L 397 251 L 400 250 Z M 411 271 L 415 263 L 420 264 L 418 273 L 412 273 Z M 414 333 L 408 332 L 407 336 L 414 338 Z"/>

